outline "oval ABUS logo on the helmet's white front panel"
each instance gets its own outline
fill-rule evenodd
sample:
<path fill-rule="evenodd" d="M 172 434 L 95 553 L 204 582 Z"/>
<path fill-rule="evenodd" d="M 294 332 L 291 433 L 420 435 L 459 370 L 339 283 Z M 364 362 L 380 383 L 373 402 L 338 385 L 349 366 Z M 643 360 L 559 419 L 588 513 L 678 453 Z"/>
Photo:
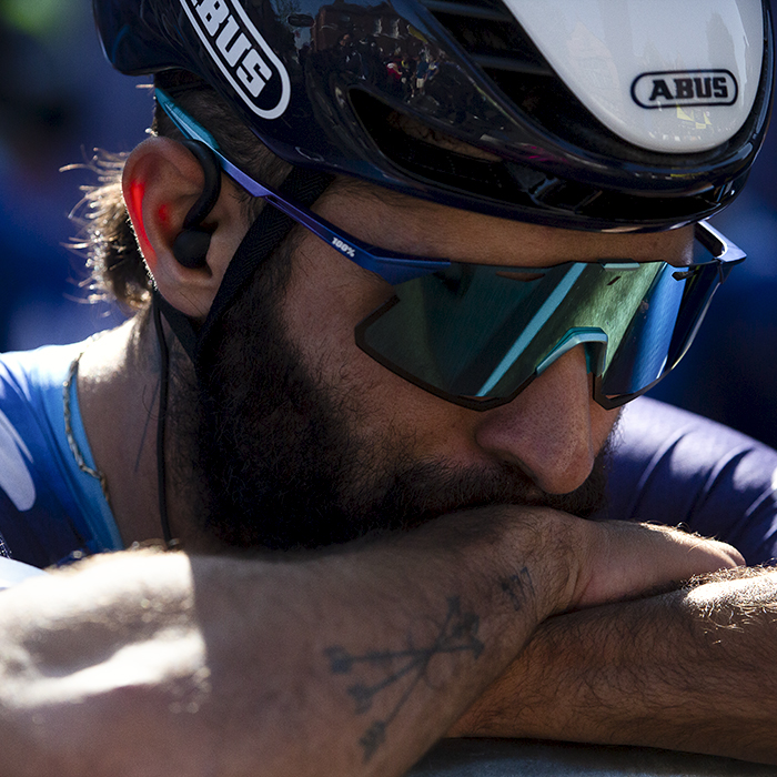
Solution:
<path fill-rule="evenodd" d="M 638 75 L 632 97 L 637 105 L 648 109 L 733 105 L 739 85 L 729 70 L 668 70 Z"/>

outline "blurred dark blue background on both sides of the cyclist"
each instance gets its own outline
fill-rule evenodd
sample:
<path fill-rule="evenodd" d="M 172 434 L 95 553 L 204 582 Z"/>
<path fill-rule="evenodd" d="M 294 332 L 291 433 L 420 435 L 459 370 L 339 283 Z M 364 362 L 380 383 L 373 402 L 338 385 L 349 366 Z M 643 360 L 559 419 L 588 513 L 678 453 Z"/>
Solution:
<path fill-rule="evenodd" d="M 151 121 L 148 79 L 104 62 L 88 0 L 0 0 L 0 350 L 88 336 L 121 321 L 87 304 L 83 260 L 65 248 L 83 164 L 127 151 Z M 748 261 L 713 303 L 680 366 L 652 395 L 777 446 L 777 129 L 745 193 L 715 224 Z"/>

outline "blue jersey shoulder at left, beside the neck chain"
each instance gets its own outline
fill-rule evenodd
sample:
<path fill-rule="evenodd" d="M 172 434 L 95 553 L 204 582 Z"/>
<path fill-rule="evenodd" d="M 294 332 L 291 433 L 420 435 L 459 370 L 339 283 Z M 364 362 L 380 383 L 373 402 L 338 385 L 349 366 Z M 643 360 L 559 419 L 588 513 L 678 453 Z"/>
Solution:
<path fill-rule="evenodd" d="M 0 535 L 4 555 L 34 566 L 121 548 L 100 483 L 78 466 L 64 431 L 63 383 L 84 345 L 0 356 Z M 93 467 L 75 381 L 71 427 Z"/>

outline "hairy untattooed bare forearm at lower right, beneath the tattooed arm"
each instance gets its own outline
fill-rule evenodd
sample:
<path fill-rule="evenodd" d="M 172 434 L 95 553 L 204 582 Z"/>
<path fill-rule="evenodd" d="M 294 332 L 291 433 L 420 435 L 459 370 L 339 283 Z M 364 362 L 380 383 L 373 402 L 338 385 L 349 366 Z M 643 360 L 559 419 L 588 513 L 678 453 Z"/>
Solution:
<path fill-rule="evenodd" d="M 453 734 L 777 764 L 777 572 L 546 620 Z"/>

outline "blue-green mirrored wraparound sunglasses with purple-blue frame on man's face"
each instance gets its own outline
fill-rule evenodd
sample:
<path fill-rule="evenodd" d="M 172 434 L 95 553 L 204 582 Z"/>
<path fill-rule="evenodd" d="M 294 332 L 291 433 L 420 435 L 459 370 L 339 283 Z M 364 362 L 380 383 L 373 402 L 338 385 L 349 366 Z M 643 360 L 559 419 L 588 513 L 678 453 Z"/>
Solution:
<path fill-rule="evenodd" d="M 157 99 L 251 195 L 394 286 L 393 296 L 356 325 L 363 351 L 422 389 L 473 410 L 512 401 L 578 345 L 603 407 L 644 394 L 680 361 L 715 291 L 745 259 L 706 222 L 695 226 L 700 255 L 687 266 L 609 259 L 513 268 L 385 251 L 250 178 L 169 95 L 157 90 Z"/>

